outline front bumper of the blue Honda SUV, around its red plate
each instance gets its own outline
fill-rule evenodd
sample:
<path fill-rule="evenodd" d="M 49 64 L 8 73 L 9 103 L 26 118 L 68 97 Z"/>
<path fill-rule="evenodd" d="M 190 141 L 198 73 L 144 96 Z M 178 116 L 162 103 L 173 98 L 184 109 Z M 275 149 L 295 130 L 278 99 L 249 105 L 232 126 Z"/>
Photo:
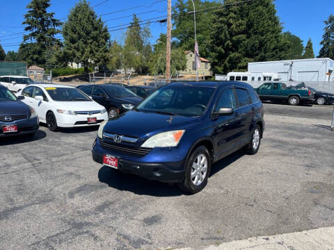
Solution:
<path fill-rule="evenodd" d="M 180 162 L 145 161 L 143 160 L 145 156 L 129 156 L 129 154 L 121 153 L 116 150 L 106 150 L 101 147 L 97 139 L 92 149 L 93 160 L 96 163 L 103 164 L 103 156 L 106 154 L 118 158 L 118 170 L 120 172 L 136 174 L 143 178 L 165 183 L 180 183 L 184 180 L 184 160 Z M 148 154 L 152 154 L 152 151 Z M 151 155 L 148 156 L 148 158 L 154 159 L 156 157 Z"/>

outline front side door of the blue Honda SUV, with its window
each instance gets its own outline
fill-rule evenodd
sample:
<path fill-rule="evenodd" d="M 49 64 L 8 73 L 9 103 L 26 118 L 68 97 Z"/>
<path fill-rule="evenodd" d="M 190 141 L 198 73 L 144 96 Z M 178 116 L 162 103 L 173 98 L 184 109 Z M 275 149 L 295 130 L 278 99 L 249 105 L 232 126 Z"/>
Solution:
<path fill-rule="evenodd" d="M 212 112 L 212 122 L 214 123 L 214 153 L 217 160 L 239 149 L 238 133 L 240 117 L 234 114 L 223 116 L 215 115 L 220 108 L 237 108 L 233 88 L 228 88 L 221 92 Z"/>

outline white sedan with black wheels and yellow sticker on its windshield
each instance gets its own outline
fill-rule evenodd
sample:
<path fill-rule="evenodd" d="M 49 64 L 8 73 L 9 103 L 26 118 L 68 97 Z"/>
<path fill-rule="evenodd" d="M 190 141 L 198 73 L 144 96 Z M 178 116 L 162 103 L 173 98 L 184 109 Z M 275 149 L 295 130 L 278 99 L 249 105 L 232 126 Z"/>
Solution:
<path fill-rule="evenodd" d="M 96 103 L 84 92 L 65 85 L 32 84 L 19 92 L 23 102 L 38 113 L 40 122 L 47 124 L 49 130 L 58 127 L 100 125 L 108 119 L 106 109 Z"/>

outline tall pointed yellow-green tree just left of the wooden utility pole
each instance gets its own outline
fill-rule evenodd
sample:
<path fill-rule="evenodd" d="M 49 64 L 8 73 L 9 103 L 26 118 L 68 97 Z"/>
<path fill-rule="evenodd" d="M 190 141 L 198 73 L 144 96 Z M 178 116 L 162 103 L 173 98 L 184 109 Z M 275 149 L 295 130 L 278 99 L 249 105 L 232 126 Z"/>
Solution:
<path fill-rule="evenodd" d="M 140 20 L 134 15 L 125 34 L 125 44 L 122 49 L 123 65 L 125 69 L 134 69 L 138 74 L 146 74 L 152 53 L 149 42 L 151 33 L 149 26 L 142 28 L 139 24 Z"/>

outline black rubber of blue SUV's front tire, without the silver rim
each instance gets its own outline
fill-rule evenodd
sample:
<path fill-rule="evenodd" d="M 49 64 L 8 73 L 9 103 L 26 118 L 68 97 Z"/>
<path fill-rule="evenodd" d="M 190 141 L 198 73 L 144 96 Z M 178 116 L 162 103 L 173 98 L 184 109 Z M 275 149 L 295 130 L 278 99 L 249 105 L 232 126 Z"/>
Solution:
<path fill-rule="evenodd" d="M 193 167 L 193 164 L 196 164 L 196 161 L 198 161 L 198 157 L 205 156 L 207 160 L 207 169 L 204 178 L 202 181 L 195 185 L 193 182 L 196 180 L 196 175 L 199 180 L 199 175 L 202 176 L 203 172 L 197 171 L 198 174 L 195 174 L 193 178 L 191 178 L 191 172 L 196 172 L 196 169 Z M 196 194 L 197 192 L 200 192 L 205 186 L 207 185 L 207 178 L 209 178 L 211 169 L 211 156 L 209 154 L 209 151 L 207 151 L 207 148 L 204 146 L 200 146 L 197 149 L 191 153 L 191 156 L 189 157 L 189 160 L 186 163 L 186 176 L 184 177 L 184 181 L 182 183 L 178 183 L 178 186 L 181 190 L 184 190 L 184 192 L 188 192 L 190 194 Z M 194 171 L 193 171 L 194 170 Z"/>

